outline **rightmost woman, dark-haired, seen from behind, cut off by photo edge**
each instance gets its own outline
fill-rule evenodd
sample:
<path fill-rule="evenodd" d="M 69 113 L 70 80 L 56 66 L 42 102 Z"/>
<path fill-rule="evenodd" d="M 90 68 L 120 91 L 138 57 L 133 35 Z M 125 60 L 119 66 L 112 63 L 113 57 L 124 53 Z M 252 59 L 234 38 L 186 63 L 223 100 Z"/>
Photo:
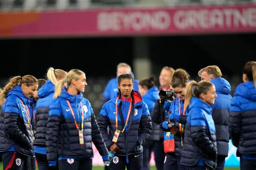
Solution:
<path fill-rule="evenodd" d="M 256 170 L 256 62 L 243 68 L 243 81 L 231 101 L 229 132 L 240 157 L 241 170 Z"/>

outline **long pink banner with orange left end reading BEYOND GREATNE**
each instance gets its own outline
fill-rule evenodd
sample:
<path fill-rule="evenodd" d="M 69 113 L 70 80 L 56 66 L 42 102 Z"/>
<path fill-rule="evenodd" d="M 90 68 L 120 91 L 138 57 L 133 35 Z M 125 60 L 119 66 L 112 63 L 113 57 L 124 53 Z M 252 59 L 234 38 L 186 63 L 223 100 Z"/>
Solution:
<path fill-rule="evenodd" d="M 0 23 L 0 37 L 255 32 L 256 4 L 0 12 Z"/>

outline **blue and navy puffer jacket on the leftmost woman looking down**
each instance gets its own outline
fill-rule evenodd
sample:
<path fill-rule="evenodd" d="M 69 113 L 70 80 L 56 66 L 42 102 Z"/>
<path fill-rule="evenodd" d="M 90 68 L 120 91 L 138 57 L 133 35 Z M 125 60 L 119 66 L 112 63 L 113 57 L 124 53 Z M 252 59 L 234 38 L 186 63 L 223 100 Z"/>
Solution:
<path fill-rule="evenodd" d="M 2 107 L 0 150 L 8 150 L 13 145 L 19 153 L 32 157 L 34 155 L 32 146 L 34 133 L 29 127 L 29 124 L 32 127 L 32 122 L 33 99 L 25 96 L 20 86 L 16 85 L 12 91 L 7 93 Z"/>

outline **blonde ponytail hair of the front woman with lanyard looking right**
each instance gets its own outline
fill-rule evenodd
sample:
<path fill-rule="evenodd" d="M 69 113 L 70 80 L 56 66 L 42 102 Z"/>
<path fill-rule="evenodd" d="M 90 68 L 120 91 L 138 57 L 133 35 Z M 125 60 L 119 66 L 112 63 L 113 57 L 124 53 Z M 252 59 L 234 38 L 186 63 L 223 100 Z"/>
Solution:
<path fill-rule="evenodd" d="M 58 81 L 58 83 L 55 85 L 55 92 L 54 92 L 54 98 L 57 98 L 58 96 L 61 96 L 61 90 L 64 85 L 64 82 L 67 82 L 67 86 L 71 85 L 72 80 L 78 80 L 79 77 L 85 74 L 83 71 L 79 69 L 72 69 L 67 73 L 67 78 L 61 79 Z"/>

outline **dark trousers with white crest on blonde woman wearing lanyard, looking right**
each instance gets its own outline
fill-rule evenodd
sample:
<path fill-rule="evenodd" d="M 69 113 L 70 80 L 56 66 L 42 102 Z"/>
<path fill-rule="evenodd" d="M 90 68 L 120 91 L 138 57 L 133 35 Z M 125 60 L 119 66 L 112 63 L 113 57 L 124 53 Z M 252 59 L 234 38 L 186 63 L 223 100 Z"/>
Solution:
<path fill-rule="evenodd" d="M 92 170 L 93 160 L 89 159 L 62 159 L 58 161 L 59 170 Z"/>

